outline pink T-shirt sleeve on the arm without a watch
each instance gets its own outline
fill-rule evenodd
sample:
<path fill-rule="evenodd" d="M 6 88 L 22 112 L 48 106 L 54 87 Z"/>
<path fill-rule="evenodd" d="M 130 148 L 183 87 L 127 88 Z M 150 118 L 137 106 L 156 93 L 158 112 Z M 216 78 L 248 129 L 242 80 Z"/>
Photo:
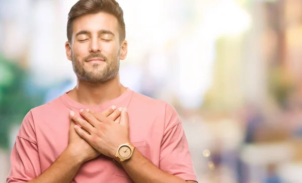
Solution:
<path fill-rule="evenodd" d="M 7 183 L 27 182 L 41 174 L 38 146 L 32 113 L 29 112 L 20 127 L 11 153 L 11 169 Z"/>

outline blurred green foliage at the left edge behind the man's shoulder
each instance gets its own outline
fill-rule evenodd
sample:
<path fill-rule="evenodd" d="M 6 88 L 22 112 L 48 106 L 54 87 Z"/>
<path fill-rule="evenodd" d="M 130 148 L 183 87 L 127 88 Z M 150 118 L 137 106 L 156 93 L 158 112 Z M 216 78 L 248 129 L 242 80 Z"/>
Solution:
<path fill-rule="evenodd" d="M 42 95 L 30 95 L 28 75 L 0 55 L 0 147 L 9 148 L 10 129 L 20 125 L 28 111 L 42 104 Z"/>

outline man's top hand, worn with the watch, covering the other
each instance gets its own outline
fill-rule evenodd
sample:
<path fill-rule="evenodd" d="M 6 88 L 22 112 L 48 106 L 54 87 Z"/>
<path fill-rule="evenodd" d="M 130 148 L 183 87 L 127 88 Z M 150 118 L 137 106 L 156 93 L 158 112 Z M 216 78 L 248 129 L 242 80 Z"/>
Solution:
<path fill-rule="evenodd" d="M 113 158 L 117 152 L 117 147 L 129 142 L 129 124 L 126 109 L 121 112 L 120 123 L 114 123 L 113 120 L 102 115 L 96 118 L 87 110 L 80 110 L 80 114 L 87 121 L 79 117 L 73 118 L 82 127 L 75 125 L 75 131 L 100 153 Z"/>

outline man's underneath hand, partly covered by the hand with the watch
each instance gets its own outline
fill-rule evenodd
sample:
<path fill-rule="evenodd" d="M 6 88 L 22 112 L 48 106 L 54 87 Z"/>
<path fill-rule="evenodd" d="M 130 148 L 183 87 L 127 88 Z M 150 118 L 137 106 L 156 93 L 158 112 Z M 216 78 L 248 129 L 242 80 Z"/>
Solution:
<path fill-rule="evenodd" d="M 90 110 L 89 113 L 93 114 L 96 118 L 101 115 L 107 117 L 112 121 L 115 121 L 116 123 L 120 122 L 121 110 L 116 109 L 115 106 L 112 106 L 102 112 L 95 112 Z M 89 161 L 99 156 L 100 152 L 94 149 L 88 142 L 82 139 L 77 134 L 77 132 L 74 131 L 75 123 L 73 121 L 73 118 L 79 118 L 79 117 L 77 117 L 77 115 L 74 115 L 73 111 L 70 111 L 69 117 L 70 117 L 69 137 L 68 137 L 68 146 L 66 148 L 68 154 L 73 156 L 75 159 L 78 159 L 79 163 Z"/>

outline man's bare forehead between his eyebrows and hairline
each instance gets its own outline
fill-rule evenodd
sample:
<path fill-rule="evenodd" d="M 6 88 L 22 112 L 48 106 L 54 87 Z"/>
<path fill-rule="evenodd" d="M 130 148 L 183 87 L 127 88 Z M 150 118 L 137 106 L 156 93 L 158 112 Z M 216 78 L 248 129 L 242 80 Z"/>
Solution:
<path fill-rule="evenodd" d="M 82 30 L 98 32 L 100 30 L 109 30 L 118 34 L 118 21 L 113 15 L 107 13 L 88 14 L 74 20 L 72 25 L 72 34 Z"/>

